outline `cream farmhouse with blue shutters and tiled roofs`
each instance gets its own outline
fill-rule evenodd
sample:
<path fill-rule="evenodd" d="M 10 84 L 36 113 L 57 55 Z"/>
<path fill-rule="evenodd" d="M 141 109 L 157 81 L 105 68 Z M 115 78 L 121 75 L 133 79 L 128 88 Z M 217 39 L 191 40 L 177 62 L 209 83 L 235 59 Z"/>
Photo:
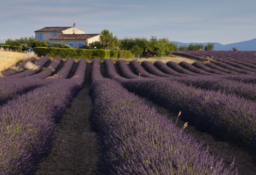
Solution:
<path fill-rule="evenodd" d="M 45 40 L 51 43 L 66 43 L 72 48 L 80 48 L 83 45 L 98 41 L 100 34 L 86 34 L 76 27 L 44 27 L 34 31 L 36 40 Z"/>

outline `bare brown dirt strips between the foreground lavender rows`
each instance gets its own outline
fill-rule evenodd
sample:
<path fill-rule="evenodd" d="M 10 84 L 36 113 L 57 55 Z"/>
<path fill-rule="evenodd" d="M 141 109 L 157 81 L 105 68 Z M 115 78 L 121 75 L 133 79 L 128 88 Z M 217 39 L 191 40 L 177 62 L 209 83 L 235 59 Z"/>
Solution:
<path fill-rule="evenodd" d="M 91 65 L 88 64 L 88 69 L 90 67 Z M 92 105 L 89 96 L 89 77 L 87 73 L 85 87 L 74 98 L 72 106 L 66 110 L 62 122 L 57 126 L 51 154 L 39 164 L 35 174 L 104 174 L 97 166 L 100 154 L 98 136 L 91 129 L 89 121 L 89 110 Z M 145 101 L 149 106 L 155 107 L 159 113 L 176 122 L 178 114 L 171 113 L 150 100 Z M 178 119 L 177 126 L 182 128 L 184 123 L 185 121 Z M 256 174 L 256 165 L 252 163 L 251 156 L 243 148 L 218 141 L 189 124 L 185 132 L 194 136 L 197 141 L 203 141 L 203 148 L 206 149 L 208 145 L 210 153 L 219 154 L 219 158 L 223 158 L 225 167 L 229 167 L 235 158 L 234 167 L 238 168 L 239 174 Z"/>

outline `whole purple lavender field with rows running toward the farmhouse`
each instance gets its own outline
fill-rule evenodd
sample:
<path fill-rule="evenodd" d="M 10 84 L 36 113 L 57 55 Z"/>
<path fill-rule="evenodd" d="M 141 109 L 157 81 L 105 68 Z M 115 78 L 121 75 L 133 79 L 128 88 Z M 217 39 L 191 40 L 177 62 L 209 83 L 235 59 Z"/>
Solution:
<path fill-rule="evenodd" d="M 241 147 L 251 156 L 248 164 L 255 165 L 256 52 L 174 54 L 197 62 L 75 63 L 42 57 L 19 63 L 22 71 L 1 72 L 0 174 L 36 172 L 51 155 L 63 115 L 85 86 L 92 101 L 89 125 L 100 148 L 95 174 L 254 174 L 237 168 L 243 165 L 232 153 L 234 161 L 227 165 L 186 129 L 193 126 Z M 37 69 L 26 69 L 27 62 Z M 146 100 L 181 112 L 178 119 L 188 126 L 176 126 Z"/>

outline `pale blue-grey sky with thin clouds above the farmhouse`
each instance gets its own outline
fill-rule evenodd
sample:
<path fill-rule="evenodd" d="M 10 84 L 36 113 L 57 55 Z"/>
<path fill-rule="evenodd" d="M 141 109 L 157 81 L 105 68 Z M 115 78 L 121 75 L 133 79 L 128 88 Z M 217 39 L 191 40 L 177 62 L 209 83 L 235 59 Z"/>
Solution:
<path fill-rule="evenodd" d="M 118 39 L 223 45 L 256 38 L 255 0 L 0 0 L 0 43 L 43 27 L 109 30 Z"/>

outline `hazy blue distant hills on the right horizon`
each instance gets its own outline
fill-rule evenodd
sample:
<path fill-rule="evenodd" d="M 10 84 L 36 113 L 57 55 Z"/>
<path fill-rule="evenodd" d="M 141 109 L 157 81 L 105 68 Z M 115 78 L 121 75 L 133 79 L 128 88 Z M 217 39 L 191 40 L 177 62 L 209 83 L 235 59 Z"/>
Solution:
<path fill-rule="evenodd" d="M 170 41 L 171 43 L 176 43 L 178 46 L 181 45 L 190 45 L 190 43 L 182 43 L 176 41 Z M 207 43 L 214 43 L 214 42 L 206 42 L 206 43 L 192 43 L 195 44 L 202 44 L 207 45 Z M 243 42 L 237 43 L 229 43 L 226 45 L 222 45 L 221 43 L 214 43 L 214 51 L 229 51 L 231 48 L 239 48 L 240 51 L 256 51 L 256 38 L 252 40 L 246 40 Z"/>

